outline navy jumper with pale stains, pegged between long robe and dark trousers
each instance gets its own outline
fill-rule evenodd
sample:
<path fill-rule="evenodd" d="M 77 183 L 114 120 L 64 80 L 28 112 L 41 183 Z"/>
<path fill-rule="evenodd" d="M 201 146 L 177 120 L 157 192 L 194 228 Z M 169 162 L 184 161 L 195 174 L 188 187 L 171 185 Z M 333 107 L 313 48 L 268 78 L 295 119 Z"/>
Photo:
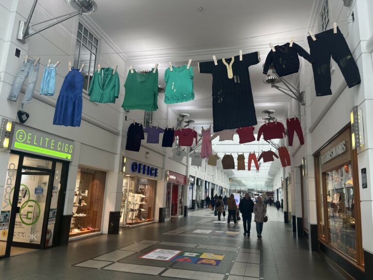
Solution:
<path fill-rule="evenodd" d="M 266 63 L 264 64 L 263 74 L 267 75 L 267 72 L 273 64 L 274 70 L 276 70 L 279 77 L 297 73 L 299 71 L 299 58 L 298 54 L 313 63 L 314 59 L 310 54 L 308 54 L 301 46 L 293 43 L 290 47 L 289 43 L 281 46 L 275 46 L 276 50 L 273 52 L 271 50 L 266 58 Z"/>

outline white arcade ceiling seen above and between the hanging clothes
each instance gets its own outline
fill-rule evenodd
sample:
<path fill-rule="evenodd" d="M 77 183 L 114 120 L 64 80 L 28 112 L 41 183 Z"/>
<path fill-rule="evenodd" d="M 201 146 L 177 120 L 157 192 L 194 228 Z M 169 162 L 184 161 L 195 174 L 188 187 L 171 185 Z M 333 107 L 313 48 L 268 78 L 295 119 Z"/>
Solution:
<path fill-rule="evenodd" d="M 212 77 L 198 73 L 197 62 L 260 51 L 261 62 L 250 67 L 255 111 L 259 126 L 261 111 L 274 109 L 275 117 L 284 121 L 289 97 L 263 83 L 262 67 L 273 45 L 295 37 L 305 45 L 305 37 L 315 0 L 96 0 L 98 11 L 90 17 L 111 37 L 136 69 L 151 68 L 158 63 L 159 84 L 169 66 L 184 65 L 193 59 L 195 100 L 171 105 L 177 113 L 188 113 L 197 131 L 212 124 Z M 294 13 L 296 7 L 296 13 Z M 125 70 L 126 71 L 126 70 Z M 288 81 L 294 82 L 294 76 Z M 156 124 L 156 120 L 153 120 Z M 234 141 L 213 141 L 213 149 L 224 153 L 258 152 L 272 148 L 267 142 L 240 145 Z M 273 148 L 272 148 L 273 149 Z M 247 160 L 246 160 L 247 161 Z M 247 162 L 246 162 L 247 165 Z M 281 165 L 278 160 L 262 163 L 260 171 L 230 171 L 237 186 L 271 187 L 274 174 Z"/>

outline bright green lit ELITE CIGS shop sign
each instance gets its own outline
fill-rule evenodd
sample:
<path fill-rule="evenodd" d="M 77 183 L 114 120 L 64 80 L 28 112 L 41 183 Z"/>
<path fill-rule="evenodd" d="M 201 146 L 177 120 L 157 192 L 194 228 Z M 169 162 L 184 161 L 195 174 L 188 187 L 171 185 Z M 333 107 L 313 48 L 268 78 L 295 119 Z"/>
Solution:
<path fill-rule="evenodd" d="M 74 142 L 16 123 L 12 150 L 72 161 Z"/>

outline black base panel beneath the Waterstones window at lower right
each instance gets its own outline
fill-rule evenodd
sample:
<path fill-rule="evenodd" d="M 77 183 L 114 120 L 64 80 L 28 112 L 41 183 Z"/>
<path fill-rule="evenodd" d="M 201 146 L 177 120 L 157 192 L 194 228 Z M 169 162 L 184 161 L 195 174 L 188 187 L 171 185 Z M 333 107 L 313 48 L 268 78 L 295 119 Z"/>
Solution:
<path fill-rule="evenodd" d="M 366 278 L 364 272 L 357 268 L 354 264 L 347 261 L 336 251 L 331 249 L 329 246 L 320 242 L 320 250 L 332 261 L 335 262 L 340 268 L 342 268 L 348 275 L 356 280 L 367 280 L 372 278 Z M 367 265 L 365 265 L 367 267 Z"/>

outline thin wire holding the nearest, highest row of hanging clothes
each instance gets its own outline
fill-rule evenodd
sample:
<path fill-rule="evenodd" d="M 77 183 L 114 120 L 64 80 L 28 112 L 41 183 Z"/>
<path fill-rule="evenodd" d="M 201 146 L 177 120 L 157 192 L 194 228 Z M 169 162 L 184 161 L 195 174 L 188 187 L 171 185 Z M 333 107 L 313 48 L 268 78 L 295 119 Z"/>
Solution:
<path fill-rule="evenodd" d="M 337 23 L 352 23 L 353 20 L 340 20 L 337 21 Z M 332 24 L 332 23 L 331 23 Z M 239 38 L 239 39 L 233 39 L 229 41 L 219 41 L 214 44 L 223 44 L 223 43 L 232 43 L 235 41 L 243 41 L 243 40 L 248 40 L 248 39 L 253 39 L 253 38 L 258 38 L 258 37 L 266 37 L 270 35 L 278 35 L 278 34 L 284 34 L 284 33 L 289 33 L 293 31 L 299 31 L 299 30 L 307 30 L 311 29 L 314 27 L 320 27 L 322 26 L 321 24 L 318 25 L 312 25 L 308 27 L 302 27 L 302 28 L 296 28 L 296 29 L 291 29 L 287 31 L 281 31 L 281 32 L 273 32 L 273 33 L 268 33 L 268 34 L 263 34 L 263 35 L 255 35 L 255 36 L 250 36 L 250 37 L 244 37 L 244 38 Z M 151 49 L 151 50 L 141 50 L 141 51 L 128 51 L 128 52 L 110 52 L 110 53 L 100 53 L 100 54 L 126 54 L 126 53 L 145 53 L 145 52 L 154 52 L 154 51 L 168 51 L 168 50 L 174 50 L 174 49 L 180 49 L 180 48 L 192 48 L 192 47 L 200 47 L 200 46 L 205 46 L 205 45 L 210 45 L 211 43 L 203 43 L 203 44 L 197 44 L 197 45 L 188 45 L 188 46 L 182 46 L 182 47 L 169 47 L 169 48 L 161 48 L 161 49 Z M 63 56 L 64 54 L 29 54 L 30 56 Z"/>

